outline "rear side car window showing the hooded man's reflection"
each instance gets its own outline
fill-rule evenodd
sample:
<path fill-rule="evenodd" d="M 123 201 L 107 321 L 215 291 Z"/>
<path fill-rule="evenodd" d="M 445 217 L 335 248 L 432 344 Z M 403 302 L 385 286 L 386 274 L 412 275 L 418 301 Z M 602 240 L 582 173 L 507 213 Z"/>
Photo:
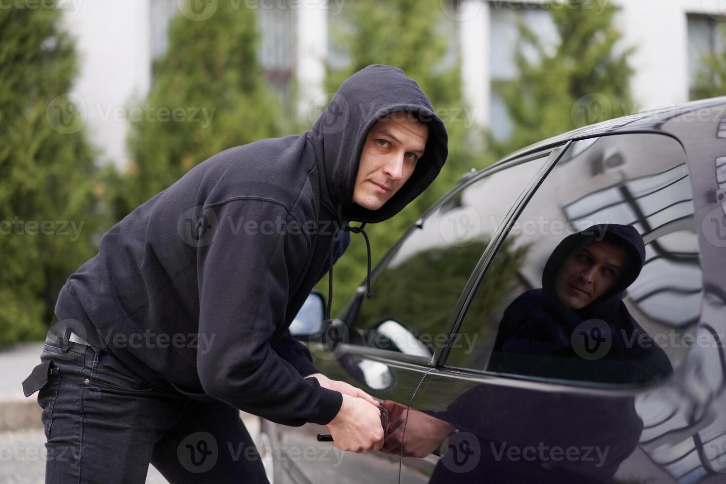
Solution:
<path fill-rule="evenodd" d="M 576 141 L 503 238 L 446 366 L 645 385 L 685 358 L 701 294 L 681 145 L 659 134 Z"/>

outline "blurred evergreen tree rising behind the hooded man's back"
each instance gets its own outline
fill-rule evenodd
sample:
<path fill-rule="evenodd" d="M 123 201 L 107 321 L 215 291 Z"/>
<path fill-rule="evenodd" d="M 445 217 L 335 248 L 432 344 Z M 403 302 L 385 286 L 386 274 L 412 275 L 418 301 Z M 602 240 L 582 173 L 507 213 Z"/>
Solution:
<path fill-rule="evenodd" d="M 293 126 L 281 119 L 280 99 L 257 59 L 258 41 L 256 12 L 244 4 L 219 2 L 206 20 L 179 14 L 171 21 L 152 89 L 136 106 L 151 115 L 131 120 L 126 173 L 109 173 L 117 218 L 208 157 Z M 166 114 L 175 109 L 178 120 Z"/>

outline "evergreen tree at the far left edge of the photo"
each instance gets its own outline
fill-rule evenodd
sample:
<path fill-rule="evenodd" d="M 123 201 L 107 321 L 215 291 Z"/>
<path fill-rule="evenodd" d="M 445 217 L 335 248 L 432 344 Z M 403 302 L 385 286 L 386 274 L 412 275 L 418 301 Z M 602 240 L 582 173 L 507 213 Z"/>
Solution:
<path fill-rule="evenodd" d="M 0 10 L 0 345 L 42 339 L 65 279 L 93 255 L 104 191 L 81 128 L 62 10 Z"/>

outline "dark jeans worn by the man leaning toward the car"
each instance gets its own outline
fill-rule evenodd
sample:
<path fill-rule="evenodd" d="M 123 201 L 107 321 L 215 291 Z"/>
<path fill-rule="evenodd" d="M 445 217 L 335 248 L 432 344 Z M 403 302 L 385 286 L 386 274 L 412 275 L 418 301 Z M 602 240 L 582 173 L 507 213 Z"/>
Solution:
<path fill-rule="evenodd" d="M 167 393 L 98 364 L 93 348 L 46 340 L 23 383 L 38 392 L 46 483 L 144 483 L 151 463 L 170 483 L 267 483 L 239 411 Z"/>

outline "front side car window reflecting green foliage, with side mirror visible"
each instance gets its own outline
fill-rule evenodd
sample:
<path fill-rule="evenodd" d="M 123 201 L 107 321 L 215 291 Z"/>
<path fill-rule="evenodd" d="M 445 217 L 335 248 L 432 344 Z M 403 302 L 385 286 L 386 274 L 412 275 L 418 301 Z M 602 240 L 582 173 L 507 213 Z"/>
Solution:
<path fill-rule="evenodd" d="M 373 297 L 359 297 L 348 316 L 351 344 L 429 361 L 494 231 L 547 155 L 464 182 L 412 228 L 375 271 Z"/>

